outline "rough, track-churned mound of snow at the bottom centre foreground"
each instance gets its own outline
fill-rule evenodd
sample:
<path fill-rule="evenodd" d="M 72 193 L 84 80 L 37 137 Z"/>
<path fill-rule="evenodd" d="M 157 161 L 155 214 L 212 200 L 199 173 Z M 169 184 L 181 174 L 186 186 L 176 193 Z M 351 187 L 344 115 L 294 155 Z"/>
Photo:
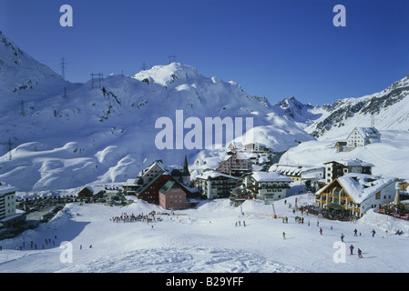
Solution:
<path fill-rule="evenodd" d="M 240 272 L 302 272 L 250 252 L 228 248 L 162 247 L 104 256 L 59 272 L 158 272 L 158 273 L 240 273 Z"/>

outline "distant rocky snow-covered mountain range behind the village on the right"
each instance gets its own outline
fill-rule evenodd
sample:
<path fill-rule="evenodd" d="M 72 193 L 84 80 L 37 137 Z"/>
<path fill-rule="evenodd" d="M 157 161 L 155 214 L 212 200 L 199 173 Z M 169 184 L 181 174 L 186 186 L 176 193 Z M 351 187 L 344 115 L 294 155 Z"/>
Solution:
<path fill-rule="evenodd" d="M 359 98 L 343 98 L 322 106 L 304 105 L 294 97 L 276 107 L 281 116 L 312 136 L 344 139 L 355 126 L 374 125 L 379 130 L 409 130 L 409 75 L 382 92 Z"/>

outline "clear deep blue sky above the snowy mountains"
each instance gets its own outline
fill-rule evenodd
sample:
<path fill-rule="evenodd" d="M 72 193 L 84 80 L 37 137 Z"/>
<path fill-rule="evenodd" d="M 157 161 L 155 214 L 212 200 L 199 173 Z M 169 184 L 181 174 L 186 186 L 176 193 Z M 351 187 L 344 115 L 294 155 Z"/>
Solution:
<path fill-rule="evenodd" d="M 71 5 L 73 27 L 59 25 Z M 335 27 L 334 5 L 346 8 Z M 322 105 L 409 74 L 407 0 L 0 0 L 0 30 L 66 79 L 138 73 L 169 55 L 275 104 Z"/>

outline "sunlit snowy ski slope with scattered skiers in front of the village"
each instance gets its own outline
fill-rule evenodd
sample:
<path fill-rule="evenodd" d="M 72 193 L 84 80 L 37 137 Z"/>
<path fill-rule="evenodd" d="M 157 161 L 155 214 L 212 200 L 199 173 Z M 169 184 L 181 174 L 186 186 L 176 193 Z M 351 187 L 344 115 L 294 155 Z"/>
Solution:
<path fill-rule="evenodd" d="M 276 215 L 287 216 L 288 224 L 281 218 L 274 219 L 273 207 L 259 200 L 246 201 L 242 205 L 244 215 L 240 207 L 230 206 L 229 199 L 218 199 L 203 201 L 197 209 L 178 211 L 173 216 L 157 215 L 162 221 L 149 224 L 114 223 L 110 218 L 123 213 L 169 211 L 142 200 L 129 206 L 69 204 L 48 224 L 1 241 L 0 272 L 407 271 L 409 222 L 373 211 L 356 223 L 318 219 L 299 211 L 293 214 L 289 203 L 294 206 L 295 198 L 299 199 L 299 205 L 313 202 L 312 196 L 301 195 L 287 197 L 287 204 L 284 199 L 274 203 Z M 304 223 L 296 223 L 295 216 L 303 216 Z M 235 226 L 238 221 L 240 226 Z M 355 228 L 362 236 L 353 236 Z M 403 230 L 404 235 L 394 235 L 396 230 Z M 285 239 L 282 232 L 286 234 Z M 334 256 L 342 258 L 339 255 L 342 248 L 336 245 L 342 234 L 345 260 L 336 263 Z M 51 242 L 45 244 L 48 238 Z M 37 249 L 30 247 L 30 241 Z M 72 263 L 64 262 L 68 258 L 68 245 L 59 247 L 62 242 L 72 246 Z M 23 243 L 22 250 L 16 249 Z M 353 256 L 349 255 L 351 244 L 355 247 Z M 363 259 L 356 255 L 358 248 L 363 251 Z"/>

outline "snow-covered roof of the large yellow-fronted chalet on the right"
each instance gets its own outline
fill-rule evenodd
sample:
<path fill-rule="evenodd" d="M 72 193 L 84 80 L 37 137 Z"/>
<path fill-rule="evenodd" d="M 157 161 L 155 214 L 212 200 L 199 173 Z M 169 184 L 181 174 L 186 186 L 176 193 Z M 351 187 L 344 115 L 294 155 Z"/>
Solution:
<path fill-rule="evenodd" d="M 372 176 L 356 173 L 340 176 L 337 179 L 355 203 L 362 203 L 381 191 L 385 186 L 389 186 L 396 181 L 396 177 L 393 176 Z M 323 187 L 316 194 L 321 194 L 325 188 Z"/>

